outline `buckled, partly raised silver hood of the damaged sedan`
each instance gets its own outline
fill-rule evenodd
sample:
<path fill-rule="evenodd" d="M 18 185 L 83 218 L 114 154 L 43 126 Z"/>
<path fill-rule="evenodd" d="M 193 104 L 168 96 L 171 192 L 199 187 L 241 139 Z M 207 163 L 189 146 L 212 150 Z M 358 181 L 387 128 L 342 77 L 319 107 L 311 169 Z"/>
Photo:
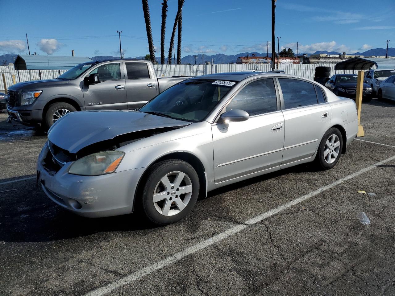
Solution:
<path fill-rule="evenodd" d="M 75 154 L 91 144 L 127 133 L 188 124 L 190 122 L 138 111 L 77 111 L 58 120 L 48 131 L 48 139 Z"/>

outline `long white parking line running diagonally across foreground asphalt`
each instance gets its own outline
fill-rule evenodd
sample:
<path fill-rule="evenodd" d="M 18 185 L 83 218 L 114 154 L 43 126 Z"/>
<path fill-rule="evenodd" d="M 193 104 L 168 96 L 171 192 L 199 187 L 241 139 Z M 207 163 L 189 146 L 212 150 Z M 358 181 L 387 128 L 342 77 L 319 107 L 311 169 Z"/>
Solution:
<path fill-rule="evenodd" d="M 279 206 L 279 207 L 277 207 L 277 208 L 275 208 L 273 210 L 270 210 L 270 211 L 265 212 L 265 213 L 263 213 L 263 214 L 261 214 L 259 216 L 256 216 L 256 217 L 254 217 L 252 219 L 249 219 L 249 220 L 245 221 L 245 223 L 243 223 L 243 224 L 238 224 L 235 227 L 232 227 L 231 229 L 228 229 L 228 230 L 226 230 L 224 232 L 221 232 L 220 234 L 217 234 L 216 236 L 213 236 L 212 238 L 209 238 L 208 240 L 205 240 L 205 241 L 203 241 L 203 242 L 201 242 L 199 244 L 193 245 L 192 247 L 188 247 L 188 248 L 180 251 L 179 253 L 176 253 L 174 255 L 171 255 L 171 256 L 167 257 L 164 260 L 161 260 L 161 261 L 158 261 L 158 262 L 156 262 L 154 264 L 151 264 L 151 265 L 149 265 L 149 266 L 147 266 L 145 268 L 142 268 L 142 269 L 138 270 L 137 272 L 134 272 L 134 273 L 132 273 L 130 275 L 126 275 L 125 277 L 122 277 L 122 278 L 118 279 L 117 281 L 114 281 L 113 283 L 109 283 L 108 285 L 105 285 L 105 286 L 100 287 L 100 288 L 98 288 L 96 290 L 88 292 L 84 296 L 102 296 L 102 295 L 107 294 L 107 293 L 109 293 L 109 292 L 111 292 L 111 291 L 113 291 L 115 289 L 118 289 L 118 288 L 124 286 L 124 285 L 130 284 L 133 281 L 135 281 L 137 279 L 140 279 L 141 277 L 143 277 L 143 276 L 145 276 L 147 274 L 151 274 L 152 272 L 154 272 L 156 270 L 159 270 L 161 268 L 164 268 L 164 267 L 166 267 L 166 266 L 168 266 L 168 265 L 170 265 L 170 264 L 172 264 L 172 263 L 174 263 L 174 262 L 176 262 L 178 260 L 181 260 L 182 258 L 184 258 L 184 257 L 186 257 L 186 256 L 188 256 L 190 254 L 193 254 L 193 253 L 196 253 L 196 252 L 198 252 L 198 251 L 200 251 L 202 249 L 205 249 L 209 245 L 212 245 L 212 244 L 214 244 L 216 242 L 220 242 L 224 238 L 227 238 L 228 236 L 231 236 L 231 235 L 233 235 L 233 234 L 235 234 L 237 232 L 240 232 L 243 229 L 246 229 L 249 225 L 254 225 L 256 223 L 259 223 L 262 220 L 277 214 L 278 212 L 281 212 L 283 210 L 291 208 L 292 206 L 295 206 L 295 204 L 299 204 L 300 202 L 308 200 L 311 197 L 313 197 L 315 195 L 318 195 L 318 194 L 322 193 L 323 191 L 325 191 L 327 189 L 330 189 L 330 188 L 332 188 L 332 187 L 334 187 L 336 185 L 339 185 L 340 183 L 342 183 L 342 182 L 344 182 L 346 180 L 352 179 L 352 178 L 354 178 L 354 177 L 356 177 L 356 176 L 358 176 L 360 174 L 363 174 L 364 172 L 367 172 L 367 171 L 369 171 L 371 169 L 374 169 L 378 165 L 382 165 L 382 164 L 387 163 L 387 162 L 389 162 L 391 160 L 394 160 L 394 159 L 395 159 L 395 155 L 392 156 L 392 157 L 389 157 L 389 158 L 387 158 L 387 159 L 385 159 L 383 161 L 375 163 L 374 165 L 366 167 L 365 169 L 359 170 L 359 171 L 355 172 L 354 174 L 350 174 L 350 175 L 348 175 L 348 176 L 346 176 L 344 178 L 341 178 L 341 179 L 339 179 L 339 180 L 337 180 L 337 181 L 335 181 L 335 182 L 333 182 L 333 183 L 331 183 L 329 185 L 325 185 L 325 186 L 323 186 L 323 187 L 321 187 L 321 188 L 319 188 L 317 190 L 314 190 L 314 191 L 308 193 L 307 195 L 304 195 L 302 197 L 294 199 L 294 200 L 292 200 L 292 201 L 290 201 L 290 202 L 288 202 L 286 204 L 283 204 L 282 206 Z"/>

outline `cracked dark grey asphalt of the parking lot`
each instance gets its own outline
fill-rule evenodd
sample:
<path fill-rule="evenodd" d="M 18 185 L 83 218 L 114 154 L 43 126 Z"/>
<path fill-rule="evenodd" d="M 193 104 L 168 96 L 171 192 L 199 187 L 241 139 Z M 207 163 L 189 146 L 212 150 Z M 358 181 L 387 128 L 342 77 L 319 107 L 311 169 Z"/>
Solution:
<path fill-rule="evenodd" d="M 359 139 L 395 146 L 394 118 L 394 103 L 364 103 Z M 0 113 L 1 296 L 84 295 L 395 155 L 355 140 L 331 170 L 299 165 L 229 185 L 155 227 L 138 213 L 78 217 L 34 178 L 9 182 L 34 177 L 46 137 L 5 120 Z M 391 160 L 108 295 L 395 295 L 394 177 Z"/>

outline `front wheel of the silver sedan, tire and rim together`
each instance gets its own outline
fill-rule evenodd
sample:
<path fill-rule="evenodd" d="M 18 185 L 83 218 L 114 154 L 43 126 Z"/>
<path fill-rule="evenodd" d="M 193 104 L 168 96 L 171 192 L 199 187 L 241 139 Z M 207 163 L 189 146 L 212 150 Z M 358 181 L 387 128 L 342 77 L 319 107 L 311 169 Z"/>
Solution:
<path fill-rule="evenodd" d="M 168 225 L 188 215 L 198 196 L 199 177 L 192 165 L 168 159 L 149 170 L 141 202 L 153 223 Z"/>

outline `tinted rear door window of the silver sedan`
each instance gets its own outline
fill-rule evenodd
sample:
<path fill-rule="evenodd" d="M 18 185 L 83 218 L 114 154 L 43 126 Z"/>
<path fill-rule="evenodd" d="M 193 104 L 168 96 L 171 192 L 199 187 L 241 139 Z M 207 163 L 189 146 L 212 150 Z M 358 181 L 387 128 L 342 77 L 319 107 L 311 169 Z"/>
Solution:
<path fill-rule="evenodd" d="M 297 79 L 278 78 L 285 109 L 314 105 L 318 103 L 314 84 Z"/>

